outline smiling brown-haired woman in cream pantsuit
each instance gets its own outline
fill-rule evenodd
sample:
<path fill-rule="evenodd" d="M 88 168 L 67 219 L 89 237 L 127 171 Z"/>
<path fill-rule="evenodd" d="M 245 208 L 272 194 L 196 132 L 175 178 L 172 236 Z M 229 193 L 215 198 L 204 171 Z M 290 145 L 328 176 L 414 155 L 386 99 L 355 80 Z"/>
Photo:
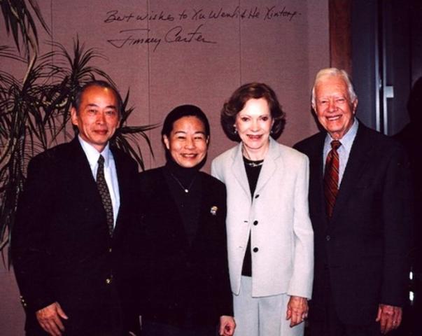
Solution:
<path fill-rule="evenodd" d="M 240 142 L 211 166 L 227 188 L 234 335 L 303 335 L 314 273 L 309 161 L 275 141 L 286 120 L 268 85 L 239 87 L 221 123 Z"/>

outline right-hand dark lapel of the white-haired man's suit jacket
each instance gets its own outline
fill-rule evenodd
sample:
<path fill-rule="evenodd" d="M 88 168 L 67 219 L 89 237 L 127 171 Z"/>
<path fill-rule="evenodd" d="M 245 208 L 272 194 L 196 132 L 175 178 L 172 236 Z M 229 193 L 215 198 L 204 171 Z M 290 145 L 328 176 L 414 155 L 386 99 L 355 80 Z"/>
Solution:
<path fill-rule="evenodd" d="M 331 222 L 335 221 L 338 214 L 342 211 L 342 207 L 346 205 L 347 199 L 353 194 L 354 186 L 356 186 L 360 176 L 365 171 L 365 163 L 370 158 L 371 150 L 372 144 L 368 139 L 367 128 L 362 123 L 359 123 L 358 132 L 351 146 L 349 160 L 344 170 L 339 193 L 337 194 Z"/>

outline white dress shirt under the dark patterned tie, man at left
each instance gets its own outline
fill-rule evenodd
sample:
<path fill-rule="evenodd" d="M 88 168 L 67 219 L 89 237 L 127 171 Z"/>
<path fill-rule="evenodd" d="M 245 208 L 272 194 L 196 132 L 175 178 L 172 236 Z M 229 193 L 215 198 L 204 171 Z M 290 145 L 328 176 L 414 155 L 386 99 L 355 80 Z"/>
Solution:
<path fill-rule="evenodd" d="M 115 162 L 113 158 L 113 153 L 110 151 L 109 144 L 107 143 L 104 150 L 99 153 L 92 145 L 88 144 L 80 136 L 78 136 L 80 146 L 82 146 L 85 155 L 87 155 L 87 160 L 90 162 L 92 176 L 94 180 L 97 179 L 97 169 L 98 169 L 98 159 L 99 155 L 103 155 L 104 158 L 104 177 L 106 179 L 108 192 L 111 197 L 111 204 L 113 204 L 113 222 L 115 222 L 119 213 L 120 207 L 120 193 L 119 193 L 119 183 L 118 176 L 115 170 Z"/>

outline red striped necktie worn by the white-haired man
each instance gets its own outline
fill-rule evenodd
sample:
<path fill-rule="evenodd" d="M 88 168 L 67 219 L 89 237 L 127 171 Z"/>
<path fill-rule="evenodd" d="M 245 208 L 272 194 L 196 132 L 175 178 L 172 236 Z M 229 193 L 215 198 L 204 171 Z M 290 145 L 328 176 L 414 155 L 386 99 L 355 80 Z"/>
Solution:
<path fill-rule="evenodd" d="M 339 153 L 337 149 L 340 146 L 342 146 L 340 141 L 331 141 L 331 151 L 325 161 L 324 195 L 328 218 L 332 216 L 332 209 L 334 209 L 335 199 L 339 191 Z"/>

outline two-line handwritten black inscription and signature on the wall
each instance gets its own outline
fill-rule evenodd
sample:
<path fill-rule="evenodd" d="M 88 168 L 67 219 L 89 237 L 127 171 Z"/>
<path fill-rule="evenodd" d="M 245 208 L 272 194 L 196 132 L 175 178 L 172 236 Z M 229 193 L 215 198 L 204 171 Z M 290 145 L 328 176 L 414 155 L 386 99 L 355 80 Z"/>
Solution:
<path fill-rule="evenodd" d="M 301 15 L 297 10 L 290 10 L 286 6 L 251 6 L 242 8 L 185 8 L 178 13 L 170 13 L 167 10 L 151 10 L 149 13 L 125 13 L 122 10 L 113 9 L 106 12 L 104 23 L 113 24 L 121 22 L 125 24 L 136 24 L 137 22 L 180 22 L 180 24 L 171 27 L 162 36 L 156 36 L 150 29 L 130 27 L 118 31 L 116 36 L 108 38 L 106 41 L 114 48 L 134 47 L 136 45 L 153 45 L 153 51 L 162 43 L 207 43 L 216 44 L 217 41 L 206 36 L 205 25 L 209 22 L 219 20 L 262 20 L 274 21 L 283 20 L 292 22 Z M 186 29 L 183 27 L 183 21 L 203 22 L 195 29 Z"/>

